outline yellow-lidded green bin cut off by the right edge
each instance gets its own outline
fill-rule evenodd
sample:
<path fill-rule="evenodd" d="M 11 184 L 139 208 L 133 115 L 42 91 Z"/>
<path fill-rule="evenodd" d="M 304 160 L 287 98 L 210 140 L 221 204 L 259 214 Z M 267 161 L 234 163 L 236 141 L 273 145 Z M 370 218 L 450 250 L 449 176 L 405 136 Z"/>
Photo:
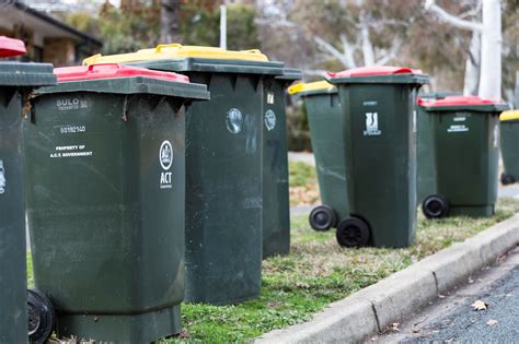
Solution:
<path fill-rule="evenodd" d="M 505 171 L 501 174 L 504 186 L 519 180 L 519 110 L 500 115 L 501 156 Z"/>

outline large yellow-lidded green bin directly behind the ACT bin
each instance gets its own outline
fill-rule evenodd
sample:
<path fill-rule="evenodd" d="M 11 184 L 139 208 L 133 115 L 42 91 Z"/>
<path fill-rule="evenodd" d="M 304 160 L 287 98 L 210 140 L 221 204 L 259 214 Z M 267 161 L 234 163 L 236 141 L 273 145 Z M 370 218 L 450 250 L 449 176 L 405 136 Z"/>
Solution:
<path fill-rule="evenodd" d="M 258 50 L 160 45 L 93 56 L 186 74 L 211 100 L 186 114 L 186 295 L 226 305 L 256 298 L 262 284 L 264 82 L 284 63 Z"/>

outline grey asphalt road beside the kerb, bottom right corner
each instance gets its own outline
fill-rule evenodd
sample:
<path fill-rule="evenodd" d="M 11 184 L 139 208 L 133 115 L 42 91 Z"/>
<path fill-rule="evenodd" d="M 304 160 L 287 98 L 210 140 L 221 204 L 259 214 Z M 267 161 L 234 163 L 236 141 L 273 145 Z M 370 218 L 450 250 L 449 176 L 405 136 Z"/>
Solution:
<path fill-rule="evenodd" d="M 487 309 L 473 310 L 476 300 Z M 396 329 L 369 342 L 519 343 L 519 249 Z"/>

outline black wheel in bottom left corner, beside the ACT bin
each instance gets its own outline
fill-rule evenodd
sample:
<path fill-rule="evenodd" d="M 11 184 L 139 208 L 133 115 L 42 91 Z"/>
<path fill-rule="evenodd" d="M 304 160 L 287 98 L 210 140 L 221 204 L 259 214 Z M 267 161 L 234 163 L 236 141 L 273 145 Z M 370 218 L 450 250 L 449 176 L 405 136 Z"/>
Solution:
<path fill-rule="evenodd" d="M 56 315 L 45 294 L 27 289 L 28 339 L 33 344 L 43 344 L 53 334 Z"/>

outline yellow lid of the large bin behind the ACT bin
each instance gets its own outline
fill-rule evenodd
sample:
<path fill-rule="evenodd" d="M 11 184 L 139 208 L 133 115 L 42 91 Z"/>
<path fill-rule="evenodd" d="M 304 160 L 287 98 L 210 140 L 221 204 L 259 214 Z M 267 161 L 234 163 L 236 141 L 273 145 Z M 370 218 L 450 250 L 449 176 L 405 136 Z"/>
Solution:
<path fill-rule="evenodd" d="M 102 56 L 91 56 L 83 60 L 83 64 L 94 63 L 129 63 L 149 60 L 203 58 L 214 60 L 244 60 L 268 61 L 268 58 L 258 49 L 226 50 L 216 47 L 183 46 L 181 44 L 161 44 L 155 48 L 141 49 L 137 52 Z"/>

